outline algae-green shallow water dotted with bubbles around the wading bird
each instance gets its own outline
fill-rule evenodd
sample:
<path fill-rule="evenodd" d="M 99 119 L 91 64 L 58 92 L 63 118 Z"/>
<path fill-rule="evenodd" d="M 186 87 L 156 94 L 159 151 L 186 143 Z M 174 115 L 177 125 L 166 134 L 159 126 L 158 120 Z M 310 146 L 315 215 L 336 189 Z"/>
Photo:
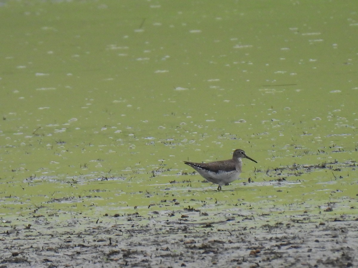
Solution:
<path fill-rule="evenodd" d="M 4 2 L 1 217 L 358 214 L 355 8 Z M 183 164 L 236 148 L 254 183 L 216 192 Z"/>

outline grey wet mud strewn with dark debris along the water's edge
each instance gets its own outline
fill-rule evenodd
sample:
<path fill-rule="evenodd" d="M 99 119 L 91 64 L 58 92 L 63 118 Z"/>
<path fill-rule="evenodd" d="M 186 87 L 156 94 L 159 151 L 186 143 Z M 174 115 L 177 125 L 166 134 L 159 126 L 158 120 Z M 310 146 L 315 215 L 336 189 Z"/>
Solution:
<path fill-rule="evenodd" d="M 2 267 L 358 267 L 353 216 L 265 223 L 222 213 L 154 212 L 3 224 Z M 220 214 L 221 212 L 218 212 Z M 224 215 L 225 214 L 225 215 Z M 229 215 L 228 215 L 229 214 Z M 220 218 L 220 217 L 218 217 Z M 251 221 L 251 226 L 246 223 Z"/>

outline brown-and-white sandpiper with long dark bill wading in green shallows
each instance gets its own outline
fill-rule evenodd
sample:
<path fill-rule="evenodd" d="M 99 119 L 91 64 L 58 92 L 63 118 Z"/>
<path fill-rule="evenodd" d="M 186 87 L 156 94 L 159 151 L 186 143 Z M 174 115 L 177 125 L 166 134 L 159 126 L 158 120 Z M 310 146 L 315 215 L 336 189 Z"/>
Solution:
<path fill-rule="evenodd" d="M 248 157 L 244 150 L 241 149 L 234 150 L 232 159 L 229 160 L 210 163 L 193 163 L 184 161 L 184 163 L 199 172 L 199 174 L 209 182 L 219 184 L 218 190 L 221 190 L 222 185 L 231 183 L 239 178 L 242 168 L 241 158 L 247 158 L 257 163 L 255 160 Z"/>

